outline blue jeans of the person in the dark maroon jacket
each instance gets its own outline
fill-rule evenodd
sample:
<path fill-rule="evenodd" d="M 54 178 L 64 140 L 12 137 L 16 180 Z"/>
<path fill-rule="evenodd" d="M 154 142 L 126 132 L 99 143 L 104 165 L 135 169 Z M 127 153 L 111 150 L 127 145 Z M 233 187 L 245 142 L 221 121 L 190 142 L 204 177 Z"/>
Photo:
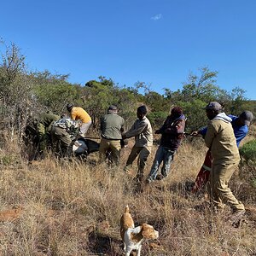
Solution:
<path fill-rule="evenodd" d="M 175 150 L 171 150 L 170 148 L 165 148 L 162 146 L 159 146 L 159 148 L 157 148 L 157 151 L 154 156 L 154 162 L 148 176 L 148 181 L 155 180 L 161 162 L 163 162 L 163 166 L 161 168 L 161 174 L 163 177 L 167 177 L 168 173 L 170 172 L 170 167 L 171 167 L 171 163 L 172 163 L 175 152 L 176 152 Z"/>

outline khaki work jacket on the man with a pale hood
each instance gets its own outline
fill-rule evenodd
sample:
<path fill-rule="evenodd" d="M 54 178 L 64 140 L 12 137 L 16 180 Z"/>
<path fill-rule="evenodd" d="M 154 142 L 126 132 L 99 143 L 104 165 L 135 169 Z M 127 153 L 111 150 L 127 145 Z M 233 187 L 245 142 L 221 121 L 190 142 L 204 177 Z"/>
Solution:
<path fill-rule="evenodd" d="M 236 137 L 230 122 L 212 119 L 205 137 L 207 148 L 211 149 L 213 164 L 233 164 L 240 161 Z"/>

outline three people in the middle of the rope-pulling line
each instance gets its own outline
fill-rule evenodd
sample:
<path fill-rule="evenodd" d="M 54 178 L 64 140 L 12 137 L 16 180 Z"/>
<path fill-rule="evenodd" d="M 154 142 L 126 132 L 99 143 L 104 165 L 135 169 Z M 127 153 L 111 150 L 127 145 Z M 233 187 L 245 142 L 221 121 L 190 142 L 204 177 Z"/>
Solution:
<path fill-rule="evenodd" d="M 147 118 L 147 112 L 148 110 L 144 105 L 137 108 L 137 119 L 128 131 L 125 131 L 125 120 L 119 116 L 116 106 L 110 106 L 108 113 L 101 120 L 102 140 L 99 148 L 101 162 L 105 159 L 108 150 L 111 150 L 113 162 L 119 165 L 122 140 L 135 137 L 135 143 L 124 170 L 130 172 L 133 161 L 137 159 L 137 179 L 139 183 L 143 182 L 144 168 L 153 146 L 153 130 Z M 182 108 L 174 107 L 171 114 L 166 118 L 164 125 L 160 130 L 155 131 L 155 134 L 161 134 L 161 140 L 147 179 L 148 183 L 168 175 L 173 156 L 183 138 L 185 121 L 186 118 L 183 115 Z M 158 175 L 161 162 L 163 162 L 163 166 L 161 174 Z"/>

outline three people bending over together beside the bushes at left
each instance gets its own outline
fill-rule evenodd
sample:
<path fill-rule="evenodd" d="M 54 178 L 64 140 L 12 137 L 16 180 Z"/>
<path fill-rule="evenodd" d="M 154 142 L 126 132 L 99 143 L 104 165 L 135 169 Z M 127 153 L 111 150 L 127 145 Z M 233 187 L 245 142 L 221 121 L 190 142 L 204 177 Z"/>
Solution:
<path fill-rule="evenodd" d="M 91 125 L 90 115 L 80 107 L 67 104 L 69 116 L 42 113 L 34 119 L 36 145 L 38 154 L 52 148 L 58 157 L 70 157 L 73 154 L 73 142 L 78 137 L 85 137 Z M 31 125 L 29 125 L 31 127 Z"/>

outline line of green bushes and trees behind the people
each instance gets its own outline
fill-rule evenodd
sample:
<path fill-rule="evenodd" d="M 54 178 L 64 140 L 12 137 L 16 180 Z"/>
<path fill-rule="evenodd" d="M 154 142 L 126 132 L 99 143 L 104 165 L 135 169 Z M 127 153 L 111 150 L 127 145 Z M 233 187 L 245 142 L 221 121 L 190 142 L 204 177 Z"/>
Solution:
<path fill-rule="evenodd" d="M 127 128 L 136 118 L 137 107 L 142 104 L 148 107 L 148 119 L 154 127 L 162 124 L 172 106 L 182 107 L 188 118 L 187 131 L 207 124 L 202 108 L 210 101 L 223 103 L 226 113 L 239 114 L 245 109 L 256 113 L 255 101 L 246 99 L 245 90 L 238 87 L 231 91 L 220 89 L 218 72 L 208 67 L 200 68 L 199 74 L 189 73 L 182 90 L 166 86 L 164 95 L 160 95 L 150 89 L 150 84 L 140 81 L 125 86 L 99 76 L 86 84 L 71 84 L 68 75 L 52 74 L 47 70 L 31 72 L 27 70 L 26 57 L 15 44 L 2 43 L 0 46 L 1 129 L 10 134 L 21 134 L 30 116 L 47 110 L 59 114 L 66 112 L 67 102 L 90 113 L 95 131 L 99 128 L 100 117 L 111 104 L 119 108 Z"/>

